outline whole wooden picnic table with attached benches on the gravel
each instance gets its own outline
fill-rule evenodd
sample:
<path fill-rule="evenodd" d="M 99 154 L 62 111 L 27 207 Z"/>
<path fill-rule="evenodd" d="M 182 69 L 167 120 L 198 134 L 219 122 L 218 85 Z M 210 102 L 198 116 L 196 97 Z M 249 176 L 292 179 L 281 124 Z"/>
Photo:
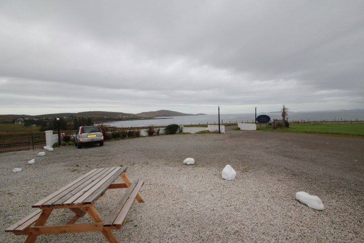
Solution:
<path fill-rule="evenodd" d="M 144 203 L 138 193 L 144 180 L 134 180 L 131 183 L 125 175 L 126 169 L 126 167 L 97 168 L 86 173 L 32 205 L 32 208 L 37 208 L 33 213 L 8 227 L 5 231 L 17 235 L 28 235 L 25 243 L 34 242 L 40 234 L 85 231 L 101 231 L 109 242 L 119 242 L 111 230 L 121 228 L 135 199 L 139 203 Z M 124 183 L 113 183 L 119 176 Z M 127 191 L 110 216 L 103 220 L 94 208 L 95 202 L 105 194 L 106 190 L 115 188 L 127 188 Z M 65 225 L 45 225 L 55 209 L 70 209 L 75 213 L 75 216 Z M 90 216 L 94 223 L 75 224 L 85 213 Z"/>

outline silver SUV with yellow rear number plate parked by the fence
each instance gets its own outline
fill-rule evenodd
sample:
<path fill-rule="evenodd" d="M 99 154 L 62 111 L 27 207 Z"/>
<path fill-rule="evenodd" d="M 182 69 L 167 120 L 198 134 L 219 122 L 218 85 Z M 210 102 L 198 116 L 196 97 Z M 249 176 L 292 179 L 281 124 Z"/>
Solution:
<path fill-rule="evenodd" d="M 84 144 L 93 143 L 99 143 L 100 146 L 104 146 L 104 136 L 100 126 L 79 127 L 74 138 L 77 148 L 81 148 Z"/>

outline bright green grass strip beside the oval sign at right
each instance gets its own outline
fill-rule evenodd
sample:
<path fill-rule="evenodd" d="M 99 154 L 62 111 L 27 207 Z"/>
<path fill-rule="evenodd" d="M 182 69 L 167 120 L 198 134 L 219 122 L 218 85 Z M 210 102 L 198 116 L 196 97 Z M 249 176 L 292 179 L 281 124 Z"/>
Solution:
<path fill-rule="evenodd" d="M 290 124 L 289 128 L 272 129 L 271 126 L 265 125 L 258 130 L 274 132 L 296 132 L 296 133 L 323 133 L 323 134 L 343 134 L 343 135 L 361 135 L 364 136 L 364 124 Z"/>

